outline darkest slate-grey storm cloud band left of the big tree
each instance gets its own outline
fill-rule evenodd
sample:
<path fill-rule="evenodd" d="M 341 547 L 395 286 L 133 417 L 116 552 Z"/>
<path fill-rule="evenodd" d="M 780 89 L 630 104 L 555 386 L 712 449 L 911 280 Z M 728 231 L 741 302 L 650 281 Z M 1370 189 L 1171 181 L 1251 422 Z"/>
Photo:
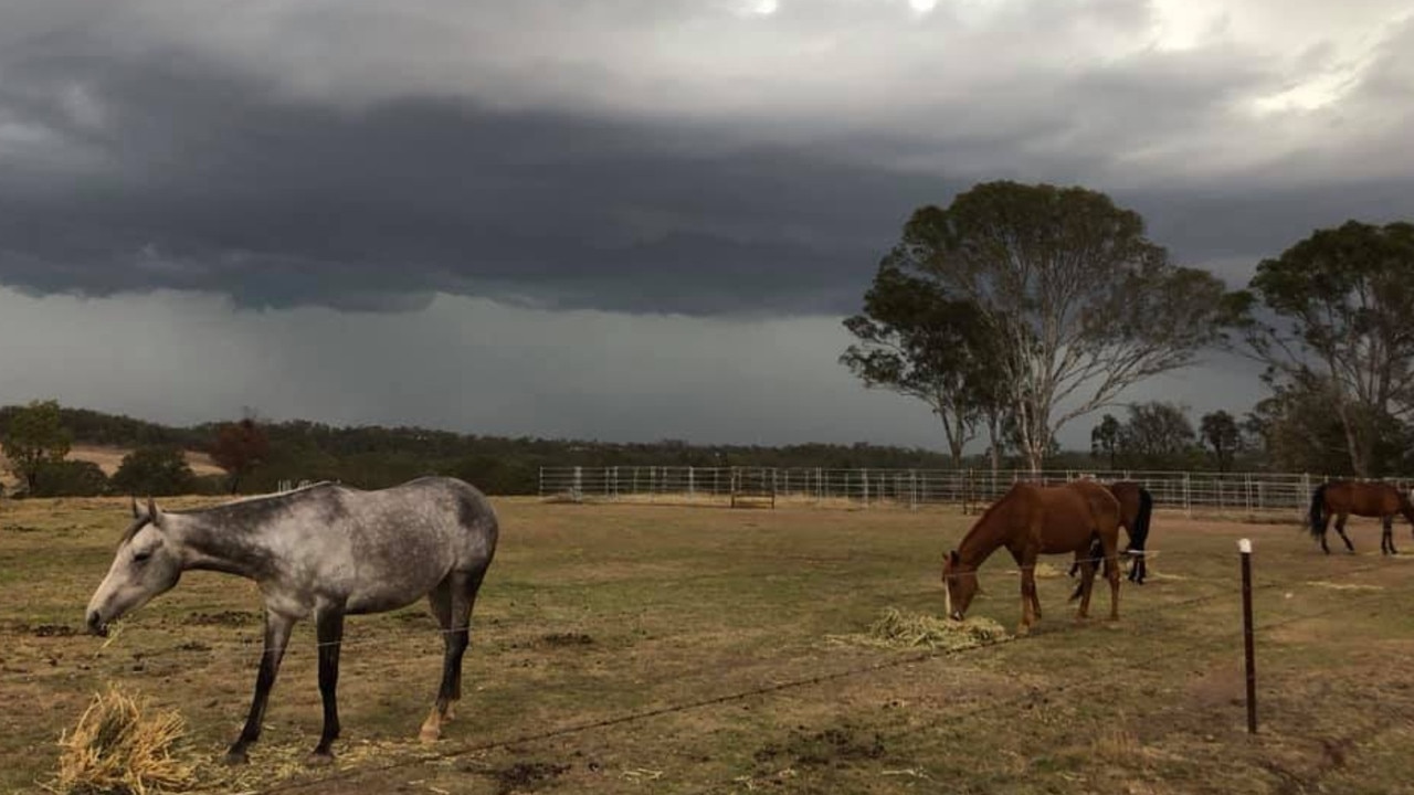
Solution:
<path fill-rule="evenodd" d="M 59 61 L 41 74 L 96 75 Z M 201 64 L 105 66 L 92 168 L 0 184 L 0 279 L 370 307 L 436 290 L 693 314 L 851 308 L 909 202 L 942 185 L 691 130 L 410 99 L 291 105 Z M 23 99 L 23 98 L 21 98 Z M 11 112 L 24 102 L 0 99 Z"/>

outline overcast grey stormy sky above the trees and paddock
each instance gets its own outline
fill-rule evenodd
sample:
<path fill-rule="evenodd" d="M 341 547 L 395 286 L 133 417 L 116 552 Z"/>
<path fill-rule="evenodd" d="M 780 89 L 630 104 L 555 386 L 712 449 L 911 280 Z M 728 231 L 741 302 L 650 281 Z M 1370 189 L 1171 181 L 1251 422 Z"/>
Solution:
<path fill-rule="evenodd" d="M 919 204 L 1082 182 L 1233 283 L 1414 216 L 1407 1 L 1227 6 L 11 1 L 0 400 L 935 446 L 834 362 Z"/>

